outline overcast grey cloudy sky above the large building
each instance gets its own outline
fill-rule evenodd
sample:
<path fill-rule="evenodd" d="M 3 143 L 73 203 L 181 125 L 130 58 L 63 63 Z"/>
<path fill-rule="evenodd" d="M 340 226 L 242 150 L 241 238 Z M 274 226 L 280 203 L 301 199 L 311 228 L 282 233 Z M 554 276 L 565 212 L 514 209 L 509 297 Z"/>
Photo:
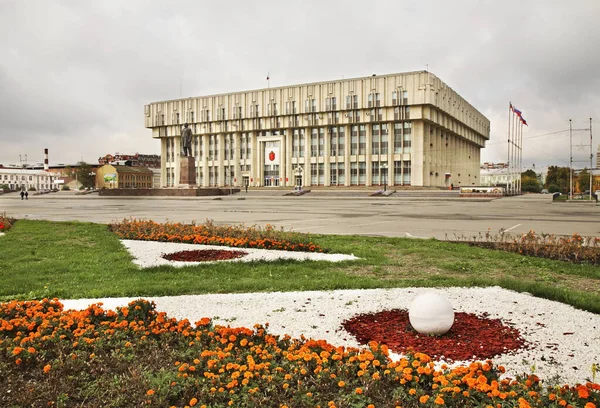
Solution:
<path fill-rule="evenodd" d="M 507 160 L 512 101 L 526 167 L 567 166 L 569 133 L 544 135 L 590 117 L 595 163 L 599 44 L 598 0 L 0 0 L 0 163 L 158 154 L 144 104 L 264 88 L 267 73 L 284 86 L 427 66 L 490 119 L 482 162 Z M 573 144 L 589 163 L 589 131 Z"/>

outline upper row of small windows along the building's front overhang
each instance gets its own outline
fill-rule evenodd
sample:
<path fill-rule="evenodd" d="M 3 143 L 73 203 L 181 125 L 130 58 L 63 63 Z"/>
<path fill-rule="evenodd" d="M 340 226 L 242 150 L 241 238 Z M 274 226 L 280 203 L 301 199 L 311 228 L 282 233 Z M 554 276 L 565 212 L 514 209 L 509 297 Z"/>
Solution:
<path fill-rule="evenodd" d="M 406 105 L 408 103 L 408 91 L 394 91 L 392 92 L 392 105 Z M 381 105 L 381 94 L 379 92 L 370 93 L 367 97 L 368 103 L 367 107 L 380 107 Z M 331 96 L 325 98 L 325 111 L 336 111 L 337 110 L 337 97 Z M 346 110 L 352 109 L 360 109 L 360 98 L 358 95 L 348 95 L 346 96 Z M 307 98 L 304 101 L 304 112 L 303 113 L 313 113 L 318 112 L 317 100 L 314 98 Z M 287 101 L 285 103 L 285 114 L 286 115 L 296 115 L 298 114 L 298 106 L 296 101 Z M 267 104 L 267 116 L 278 116 L 280 114 L 278 109 L 277 102 L 270 102 Z M 248 107 L 248 118 L 258 118 L 262 116 L 262 112 L 260 110 L 260 104 L 253 102 Z M 200 121 L 201 122 L 210 122 L 210 109 L 203 108 L 200 111 Z M 243 107 L 236 104 L 232 108 L 232 119 L 243 119 Z M 227 111 L 224 107 L 217 108 L 217 120 L 228 120 Z M 179 112 L 173 113 L 172 122 L 174 124 L 181 124 L 182 118 Z M 164 126 L 165 123 L 165 115 L 160 114 L 156 115 L 155 121 L 157 122 L 157 126 Z M 185 122 L 193 123 L 195 122 L 194 112 L 189 111 L 185 112 Z"/>

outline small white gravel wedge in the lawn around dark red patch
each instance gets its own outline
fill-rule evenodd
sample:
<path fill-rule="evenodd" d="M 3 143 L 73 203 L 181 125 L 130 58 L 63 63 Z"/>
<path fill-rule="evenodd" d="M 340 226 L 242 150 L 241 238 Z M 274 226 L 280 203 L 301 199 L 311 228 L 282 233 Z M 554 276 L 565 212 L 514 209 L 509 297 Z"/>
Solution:
<path fill-rule="evenodd" d="M 344 254 L 322 254 L 317 252 L 293 252 L 293 251 L 278 251 L 270 249 L 255 249 L 255 248 L 231 248 L 217 245 L 196 245 L 196 244 L 180 244 L 173 242 L 156 242 L 156 241 L 135 241 L 121 240 L 125 248 L 134 257 L 133 263 L 142 268 L 151 268 L 153 266 L 171 265 L 174 267 L 183 266 L 199 266 L 202 264 L 210 264 L 215 262 L 180 262 L 169 261 L 162 257 L 163 254 L 171 254 L 179 251 L 189 251 L 198 249 L 220 249 L 226 251 L 243 251 L 248 255 L 241 258 L 228 259 L 226 261 L 216 262 L 252 262 L 252 261 L 276 261 L 279 259 L 296 259 L 299 261 L 353 261 L 359 259 L 354 255 Z"/>

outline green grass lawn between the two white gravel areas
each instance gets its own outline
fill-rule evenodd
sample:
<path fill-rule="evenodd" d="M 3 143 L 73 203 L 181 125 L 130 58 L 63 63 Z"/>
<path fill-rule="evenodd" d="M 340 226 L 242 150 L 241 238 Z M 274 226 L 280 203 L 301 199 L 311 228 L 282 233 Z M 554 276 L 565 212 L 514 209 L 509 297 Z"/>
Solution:
<path fill-rule="evenodd" d="M 317 235 L 360 261 L 140 269 L 106 225 L 20 220 L 0 238 L 0 300 L 408 286 L 490 286 L 600 313 L 600 268 L 436 240 Z"/>

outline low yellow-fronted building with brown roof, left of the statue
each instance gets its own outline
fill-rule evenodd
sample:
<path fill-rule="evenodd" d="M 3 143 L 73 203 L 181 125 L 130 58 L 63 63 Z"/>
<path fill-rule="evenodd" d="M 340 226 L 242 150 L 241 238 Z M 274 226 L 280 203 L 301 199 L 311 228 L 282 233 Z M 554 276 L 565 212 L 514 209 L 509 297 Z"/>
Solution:
<path fill-rule="evenodd" d="M 152 188 L 153 174 L 146 167 L 105 164 L 96 171 L 96 188 Z"/>

